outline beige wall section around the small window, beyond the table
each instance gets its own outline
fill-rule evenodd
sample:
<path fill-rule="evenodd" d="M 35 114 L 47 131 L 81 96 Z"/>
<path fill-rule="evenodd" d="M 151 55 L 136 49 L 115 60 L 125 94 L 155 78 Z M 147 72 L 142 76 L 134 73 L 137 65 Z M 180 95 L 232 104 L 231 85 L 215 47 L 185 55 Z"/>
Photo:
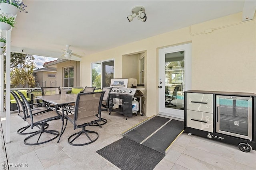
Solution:
<path fill-rule="evenodd" d="M 80 86 L 80 62 L 65 61 L 57 64 L 57 86 L 63 87 L 63 69 L 74 66 L 74 87 Z"/>

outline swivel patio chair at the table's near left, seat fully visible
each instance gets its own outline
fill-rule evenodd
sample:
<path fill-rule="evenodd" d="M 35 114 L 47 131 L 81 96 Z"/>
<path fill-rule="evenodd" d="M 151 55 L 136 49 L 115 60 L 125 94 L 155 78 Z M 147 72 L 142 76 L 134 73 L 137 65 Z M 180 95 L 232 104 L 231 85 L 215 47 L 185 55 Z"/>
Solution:
<path fill-rule="evenodd" d="M 23 101 L 24 106 L 25 106 L 26 114 L 30 115 L 30 117 L 26 118 L 26 121 L 28 122 L 28 125 L 31 127 L 31 129 L 33 129 L 33 127 L 35 127 L 35 126 L 40 127 L 39 131 L 36 131 L 36 133 L 33 133 L 32 135 L 30 135 L 30 136 L 28 136 L 24 139 L 24 144 L 25 145 L 40 145 L 40 144 L 43 144 L 43 143 L 46 143 L 46 142 L 49 142 L 49 141 L 52 141 L 52 140 L 56 139 L 59 136 L 58 131 L 46 130 L 45 129 L 45 127 L 48 126 L 48 123 L 47 123 L 48 121 L 60 119 L 60 116 L 56 113 L 56 111 L 55 110 L 50 110 L 50 111 L 47 111 L 47 112 L 44 112 L 44 113 L 41 113 L 41 114 L 33 115 L 32 112 L 35 111 L 35 110 L 38 110 L 38 109 L 37 108 L 31 109 L 29 104 L 28 104 L 28 101 L 26 100 L 24 95 L 20 92 L 18 92 L 18 94 L 22 98 L 22 101 Z M 47 133 L 48 135 L 51 134 L 54 137 L 51 138 L 51 139 L 48 139 L 48 140 L 39 141 L 40 138 L 42 137 L 43 133 Z M 38 137 L 37 141 L 33 142 L 34 141 L 33 137 L 38 135 L 38 134 L 39 134 L 39 137 Z M 47 137 L 49 137 L 48 135 L 47 135 Z"/>

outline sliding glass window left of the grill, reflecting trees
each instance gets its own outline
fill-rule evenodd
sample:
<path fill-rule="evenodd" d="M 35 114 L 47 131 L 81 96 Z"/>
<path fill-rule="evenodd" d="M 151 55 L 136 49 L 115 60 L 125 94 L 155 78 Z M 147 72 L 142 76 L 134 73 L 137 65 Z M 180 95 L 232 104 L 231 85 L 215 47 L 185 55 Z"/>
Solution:
<path fill-rule="evenodd" d="M 109 87 L 114 78 L 114 60 L 92 64 L 92 86 Z"/>

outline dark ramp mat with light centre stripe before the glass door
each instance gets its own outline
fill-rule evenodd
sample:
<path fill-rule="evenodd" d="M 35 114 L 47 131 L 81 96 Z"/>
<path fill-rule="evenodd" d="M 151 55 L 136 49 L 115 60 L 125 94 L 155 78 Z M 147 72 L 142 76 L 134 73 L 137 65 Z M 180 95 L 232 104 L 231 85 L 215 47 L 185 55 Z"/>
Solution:
<path fill-rule="evenodd" d="M 183 121 L 155 116 L 123 136 L 166 154 L 166 149 L 183 130 Z"/>

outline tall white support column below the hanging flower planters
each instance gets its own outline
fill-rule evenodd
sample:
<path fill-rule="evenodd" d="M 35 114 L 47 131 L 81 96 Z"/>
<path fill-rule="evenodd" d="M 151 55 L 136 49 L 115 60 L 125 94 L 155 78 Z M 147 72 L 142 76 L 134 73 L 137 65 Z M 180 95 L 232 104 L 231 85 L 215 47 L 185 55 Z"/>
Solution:
<path fill-rule="evenodd" d="M 10 104 L 10 90 L 11 90 L 11 78 L 10 78 L 10 70 L 11 70 L 11 29 L 6 32 L 6 96 L 5 96 L 5 105 L 6 105 L 6 143 L 11 142 L 11 104 Z"/>

